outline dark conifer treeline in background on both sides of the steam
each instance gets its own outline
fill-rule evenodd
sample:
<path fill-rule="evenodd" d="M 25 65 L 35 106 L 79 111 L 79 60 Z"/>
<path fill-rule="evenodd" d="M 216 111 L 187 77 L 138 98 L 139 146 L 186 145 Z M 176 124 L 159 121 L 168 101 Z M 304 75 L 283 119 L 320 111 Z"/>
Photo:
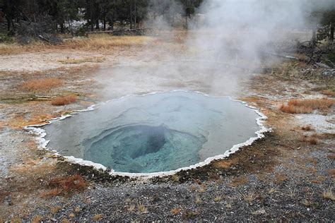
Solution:
<path fill-rule="evenodd" d="M 45 33 L 78 34 L 95 30 L 143 28 L 148 17 L 163 16 L 173 24 L 196 12 L 204 0 L 0 0 L 0 32 L 39 36 Z M 319 38 L 334 40 L 335 8 L 312 12 Z M 150 27 L 148 27 L 150 28 Z M 76 30 L 74 30 L 76 29 Z M 315 29 L 316 30 L 316 29 Z M 316 33 L 316 31 L 315 31 Z"/>

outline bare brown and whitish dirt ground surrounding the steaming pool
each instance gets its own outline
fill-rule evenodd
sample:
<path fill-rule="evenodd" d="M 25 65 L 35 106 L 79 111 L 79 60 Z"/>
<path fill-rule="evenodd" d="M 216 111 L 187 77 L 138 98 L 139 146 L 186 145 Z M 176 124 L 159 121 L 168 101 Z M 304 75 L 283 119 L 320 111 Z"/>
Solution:
<path fill-rule="evenodd" d="M 155 49 L 150 54 L 142 46 L 118 46 L 0 56 L 0 222 L 334 221 L 334 106 L 317 114 L 279 110 L 291 98 L 331 97 L 322 90 L 334 86 L 334 76 L 324 77 L 322 69 L 301 64 L 300 73 L 283 72 L 286 68 L 281 67 L 274 73 L 249 73 L 247 78 L 241 78 L 243 73 L 180 75 L 164 54 L 182 49 L 162 45 L 148 42 L 146 49 Z M 49 90 L 23 90 L 24 83 L 40 78 L 63 82 Z M 222 88 L 232 78 L 240 88 Z M 104 100 L 175 89 L 245 100 L 269 117 L 266 126 L 273 131 L 228 159 L 141 180 L 70 164 L 38 150 L 34 135 L 23 130 Z M 38 95 L 77 95 L 78 100 L 57 107 Z M 307 125 L 310 131 L 302 130 Z M 49 181 L 72 174 L 88 182 L 84 190 L 52 194 Z"/>

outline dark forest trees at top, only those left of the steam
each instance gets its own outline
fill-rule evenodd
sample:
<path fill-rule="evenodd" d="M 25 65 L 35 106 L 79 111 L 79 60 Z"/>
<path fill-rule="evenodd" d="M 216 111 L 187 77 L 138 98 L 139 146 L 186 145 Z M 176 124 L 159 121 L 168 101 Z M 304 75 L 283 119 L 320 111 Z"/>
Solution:
<path fill-rule="evenodd" d="M 114 23 L 138 28 L 151 16 L 173 18 L 174 13 L 188 18 L 202 0 L 0 0 L 0 20 L 8 31 L 20 22 L 53 23 L 54 31 L 69 32 L 71 23 L 85 20 L 87 30 L 113 30 Z M 175 8 L 173 8 L 175 7 Z M 178 8 L 178 10 L 176 10 Z M 67 29 L 67 30 L 66 30 Z"/>

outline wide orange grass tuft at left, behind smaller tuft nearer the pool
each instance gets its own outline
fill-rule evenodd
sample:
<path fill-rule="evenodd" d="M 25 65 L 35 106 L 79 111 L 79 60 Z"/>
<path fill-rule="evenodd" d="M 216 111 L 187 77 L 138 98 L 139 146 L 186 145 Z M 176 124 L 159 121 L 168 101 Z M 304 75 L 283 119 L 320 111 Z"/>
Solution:
<path fill-rule="evenodd" d="M 20 89 L 26 91 L 49 90 L 57 88 L 63 84 L 63 80 L 58 78 L 42 78 L 36 80 L 28 80 L 20 86 Z"/>

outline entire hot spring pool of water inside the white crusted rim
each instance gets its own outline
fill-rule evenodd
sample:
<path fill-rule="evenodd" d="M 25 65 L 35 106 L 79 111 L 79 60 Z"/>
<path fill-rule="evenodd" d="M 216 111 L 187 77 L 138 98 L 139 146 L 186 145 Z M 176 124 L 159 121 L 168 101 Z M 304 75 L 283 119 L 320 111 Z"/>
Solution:
<path fill-rule="evenodd" d="M 254 109 L 196 92 L 128 96 L 44 126 L 47 147 L 128 173 L 170 171 L 257 136 Z"/>

